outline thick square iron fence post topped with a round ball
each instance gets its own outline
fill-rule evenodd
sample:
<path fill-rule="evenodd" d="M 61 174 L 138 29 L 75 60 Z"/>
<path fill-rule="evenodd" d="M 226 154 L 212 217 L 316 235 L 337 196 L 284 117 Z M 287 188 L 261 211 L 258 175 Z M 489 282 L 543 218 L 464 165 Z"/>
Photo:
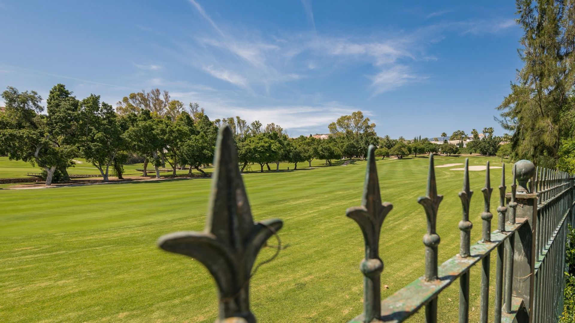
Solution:
<path fill-rule="evenodd" d="M 515 163 L 517 178 L 516 209 L 517 222 L 526 221 L 515 232 L 513 248 L 513 295 L 523 299 L 529 321 L 532 321 L 535 284 L 535 232 L 537 219 L 537 194 L 530 190 L 527 182 L 535 174 L 535 165 L 529 160 Z M 511 194 L 507 194 L 510 201 Z M 523 219 L 522 219 L 523 218 Z"/>

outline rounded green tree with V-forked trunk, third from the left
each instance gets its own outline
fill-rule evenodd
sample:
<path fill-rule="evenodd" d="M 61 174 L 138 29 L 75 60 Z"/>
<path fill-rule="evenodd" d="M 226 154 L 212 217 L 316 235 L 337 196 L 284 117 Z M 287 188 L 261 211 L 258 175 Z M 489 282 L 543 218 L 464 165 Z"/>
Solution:
<path fill-rule="evenodd" d="M 118 115 L 111 105 L 91 94 L 80 102 L 80 149 L 82 156 L 98 168 L 108 182 L 109 168 L 126 144 Z"/>

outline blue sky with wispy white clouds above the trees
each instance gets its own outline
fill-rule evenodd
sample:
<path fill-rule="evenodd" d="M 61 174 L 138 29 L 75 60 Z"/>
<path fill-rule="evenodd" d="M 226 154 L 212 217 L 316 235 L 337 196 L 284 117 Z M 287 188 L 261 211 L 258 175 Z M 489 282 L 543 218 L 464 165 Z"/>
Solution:
<path fill-rule="evenodd" d="M 522 66 L 513 1 L 0 0 L 0 87 L 115 103 L 155 87 L 209 117 L 380 136 L 493 126 Z"/>

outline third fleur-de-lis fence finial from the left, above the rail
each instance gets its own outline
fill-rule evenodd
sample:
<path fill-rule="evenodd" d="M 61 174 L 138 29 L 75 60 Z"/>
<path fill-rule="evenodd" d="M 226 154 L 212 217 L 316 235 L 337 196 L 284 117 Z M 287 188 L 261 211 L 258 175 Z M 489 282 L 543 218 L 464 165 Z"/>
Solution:
<path fill-rule="evenodd" d="M 423 236 L 423 244 L 425 245 L 425 279 L 437 279 L 437 247 L 440 239 L 435 230 L 437 222 L 437 210 L 439 203 L 441 203 L 443 195 L 437 194 L 437 186 L 435 184 L 435 168 L 433 162 L 433 153 L 430 153 L 430 170 L 427 178 L 427 194 L 424 197 L 417 199 L 425 210 L 425 217 L 427 218 L 427 233 Z"/>

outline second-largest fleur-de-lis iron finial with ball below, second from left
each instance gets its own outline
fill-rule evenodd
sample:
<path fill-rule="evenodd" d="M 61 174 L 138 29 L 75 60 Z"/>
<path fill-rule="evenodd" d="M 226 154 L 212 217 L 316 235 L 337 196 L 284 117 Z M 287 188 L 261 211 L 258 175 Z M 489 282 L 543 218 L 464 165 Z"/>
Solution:
<path fill-rule="evenodd" d="M 363 272 L 363 321 L 371 322 L 381 316 L 380 275 L 384 263 L 379 258 L 379 233 L 385 216 L 392 209 L 390 203 L 381 203 L 379 180 L 375 167 L 375 147 L 367 148 L 367 169 L 361 206 L 350 207 L 346 216 L 357 222 L 365 242 L 365 258 L 361 262 Z"/>

